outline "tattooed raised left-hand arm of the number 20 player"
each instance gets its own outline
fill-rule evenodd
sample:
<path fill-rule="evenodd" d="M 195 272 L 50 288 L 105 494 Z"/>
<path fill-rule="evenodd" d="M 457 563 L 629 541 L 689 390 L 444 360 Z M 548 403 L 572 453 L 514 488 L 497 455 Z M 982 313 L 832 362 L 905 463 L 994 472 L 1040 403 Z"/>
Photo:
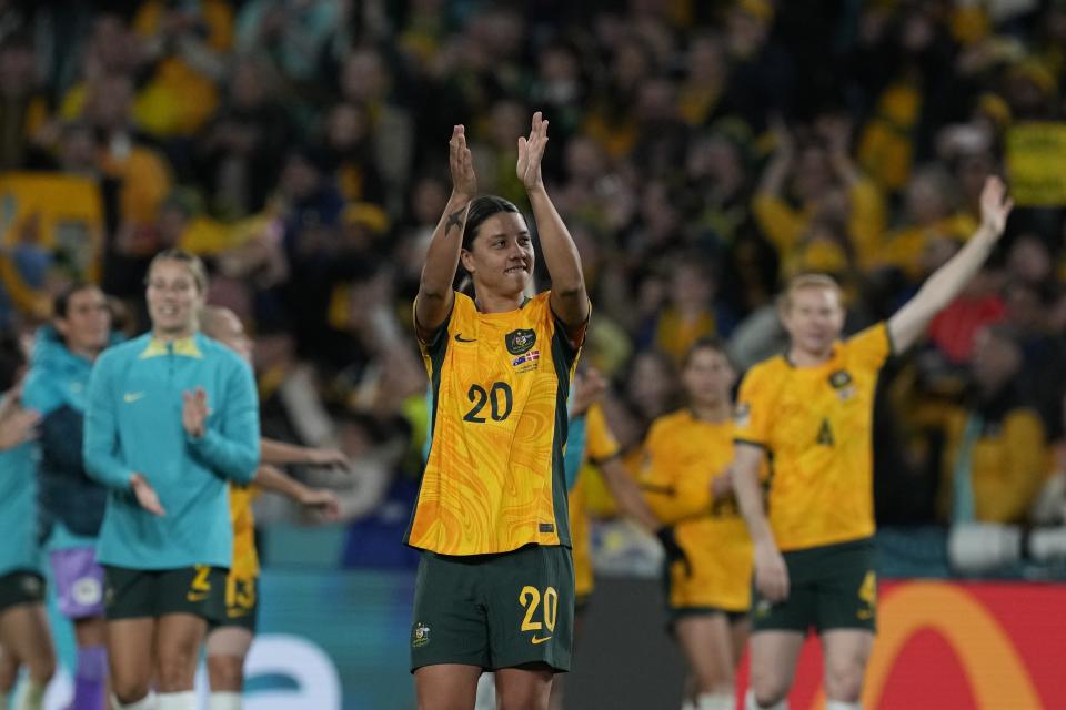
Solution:
<path fill-rule="evenodd" d="M 452 283 L 463 248 L 463 226 L 470 203 L 477 194 L 474 161 L 466 146 L 466 133 L 462 125 L 452 130 L 452 139 L 447 142 L 447 164 L 452 172 L 452 196 L 433 230 L 425 266 L 422 267 L 419 295 L 414 302 L 415 328 L 422 342 L 432 338 L 452 312 L 452 302 L 455 300 Z"/>

